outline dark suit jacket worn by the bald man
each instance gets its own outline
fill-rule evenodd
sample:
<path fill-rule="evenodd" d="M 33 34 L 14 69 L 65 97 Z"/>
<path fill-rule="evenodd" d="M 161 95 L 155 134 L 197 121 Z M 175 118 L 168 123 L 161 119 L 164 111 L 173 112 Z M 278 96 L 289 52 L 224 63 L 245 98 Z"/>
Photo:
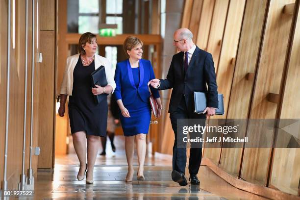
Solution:
<path fill-rule="evenodd" d="M 196 47 L 186 73 L 183 55 L 181 51 L 173 56 L 167 78 L 160 79 L 159 90 L 173 88 L 169 113 L 177 109 L 181 97 L 185 97 L 189 111 L 194 112 L 194 91 L 206 93 L 207 106 L 218 108 L 216 73 L 211 54 Z"/>

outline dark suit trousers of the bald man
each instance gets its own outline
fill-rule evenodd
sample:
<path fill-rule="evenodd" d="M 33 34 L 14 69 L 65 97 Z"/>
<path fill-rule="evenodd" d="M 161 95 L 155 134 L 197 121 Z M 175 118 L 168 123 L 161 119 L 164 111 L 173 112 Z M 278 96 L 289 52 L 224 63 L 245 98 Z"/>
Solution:
<path fill-rule="evenodd" d="M 194 107 L 194 105 L 193 105 Z M 177 147 L 177 119 L 206 119 L 205 114 L 195 114 L 192 111 L 189 111 L 186 105 L 185 97 L 181 97 L 181 101 L 179 106 L 170 114 L 172 128 L 175 133 L 175 141 L 173 146 L 173 171 L 185 173 L 185 166 L 186 166 L 186 145 L 182 148 L 180 144 L 180 148 Z M 201 120 L 201 125 L 205 126 L 205 121 Z M 182 134 L 182 132 L 178 133 Z M 193 135 L 189 133 L 190 138 L 196 138 L 198 135 Z M 180 137 L 181 138 L 181 137 Z M 178 141 L 180 142 L 180 141 Z M 182 142 L 182 141 L 181 141 Z M 190 149 L 190 159 L 189 159 L 189 173 L 190 175 L 197 175 L 202 157 L 202 148 L 201 146 L 198 148 L 191 148 Z"/>

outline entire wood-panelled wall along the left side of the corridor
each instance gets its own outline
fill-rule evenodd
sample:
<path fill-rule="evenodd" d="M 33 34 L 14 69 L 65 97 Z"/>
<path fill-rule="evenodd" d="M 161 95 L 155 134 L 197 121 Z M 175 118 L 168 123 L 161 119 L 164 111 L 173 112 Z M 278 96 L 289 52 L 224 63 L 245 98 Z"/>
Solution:
<path fill-rule="evenodd" d="M 54 158 L 53 148 L 53 113 L 54 110 L 54 72 L 55 72 L 55 31 L 49 27 L 55 26 L 55 1 L 28 0 L 28 36 L 25 36 L 26 1 L 10 0 L 10 40 L 8 36 L 8 3 L 0 1 L 0 182 L 4 189 L 4 150 L 7 139 L 6 178 L 7 189 L 18 190 L 20 176 L 23 174 L 23 135 L 25 127 L 25 162 L 24 174 L 28 177 L 30 169 L 30 138 L 32 124 L 31 169 L 37 179 L 38 163 L 40 168 L 52 168 Z M 34 10 L 32 10 L 34 3 Z M 51 9 L 53 8 L 53 9 Z M 32 15 L 34 11 L 34 15 Z M 34 29 L 32 27 L 34 17 Z M 53 19 L 52 23 L 50 17 Z M 33 31 L 33 38 L 32 38 Z M 25 41 L 28 46 L 25 49 Z M 7 59 L 7 45 L 10 44 L 10 57 Z M 33 45 L 33 46 L 32 46 Z M 27 50 L 27 68 L 25 52 Z M 40 57 L 40 53 L 42 56 Z M 43 58 L 43 59 L 42 59 Z M 9 66 L 7 62 L 9 61 Z M 32 63 L 33 62 L 33 63 Z M 33 66 L 33 65 L 34 66 Z M 33 68 L 34 67 L 34 68 Z M 9 74 L 7 73 L 9 69 Z M 27 74 L 26 74 L 27 69 Z M 33 70 L 34 69 L 34 70 Z M 33 76 L 32 76 L 33 71 Z M 7 80 L 9 79 L 9 84 Z M 25 88 L 25 80 L 27 87 Z M 50 81 L 49 81 L 50 80 Z M 33 81 L 33 90 L 32 90 Z M 52 81 L 52 83 L 51 83 Z M 8 88 L 9 85 L 9 88 Z M 31 106 L 31 95 L 33 102 Z M 8 96 L 7 96 L 8 94 Z M 7 97 L 9 109 L 6 110 Z M 26 100 L 26 104 L 25 104 Z M 32 122 L 31 122 L 32 108 Z M 25 113 L 26 112 L 26 113 Z M 6 113 L 8 118 L 6 119 Z M 7 138 L 6 122 L 8 123 Z M 35 148 L 40 147 L 40 155 L 35 154 Z M 47 148 L 50 147 L 50 148 Z M 50 150 L 49 150 L 50 149 Z M 50 164 L 48 164 L 50 163 Z M 48 165 L 47 165 L 48 164 Z M 26 180 L 27 181 L 27 180 Z M 33 186 L 33 185 L 32 185 Z M 30 185 L 29 185 L 30 187 Z"/>

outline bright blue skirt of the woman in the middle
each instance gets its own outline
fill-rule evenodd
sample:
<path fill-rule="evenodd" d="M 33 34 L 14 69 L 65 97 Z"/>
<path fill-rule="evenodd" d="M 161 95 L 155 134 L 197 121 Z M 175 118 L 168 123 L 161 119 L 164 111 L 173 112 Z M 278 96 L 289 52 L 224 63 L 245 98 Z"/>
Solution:
<path fill-rule="evenodd" d="M 151 120 L 150 102 L 144 102 L 139 96 L 130 105 L 125 106 L 130 117 L 123 117 L 120 112 L 120 120 L 125 136 L 133 136 L 140 133 L 147 134 Z"/>

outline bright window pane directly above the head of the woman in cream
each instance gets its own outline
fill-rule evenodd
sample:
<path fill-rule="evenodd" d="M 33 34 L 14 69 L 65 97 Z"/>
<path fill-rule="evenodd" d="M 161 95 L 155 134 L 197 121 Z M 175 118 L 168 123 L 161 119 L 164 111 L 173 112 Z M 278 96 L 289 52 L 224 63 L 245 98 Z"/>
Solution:
<path fill-rule="evenodd" d="M 98 16 L 79 16 L 78 18 L 78 33 L 92 32 L 98 34 Z"/>

